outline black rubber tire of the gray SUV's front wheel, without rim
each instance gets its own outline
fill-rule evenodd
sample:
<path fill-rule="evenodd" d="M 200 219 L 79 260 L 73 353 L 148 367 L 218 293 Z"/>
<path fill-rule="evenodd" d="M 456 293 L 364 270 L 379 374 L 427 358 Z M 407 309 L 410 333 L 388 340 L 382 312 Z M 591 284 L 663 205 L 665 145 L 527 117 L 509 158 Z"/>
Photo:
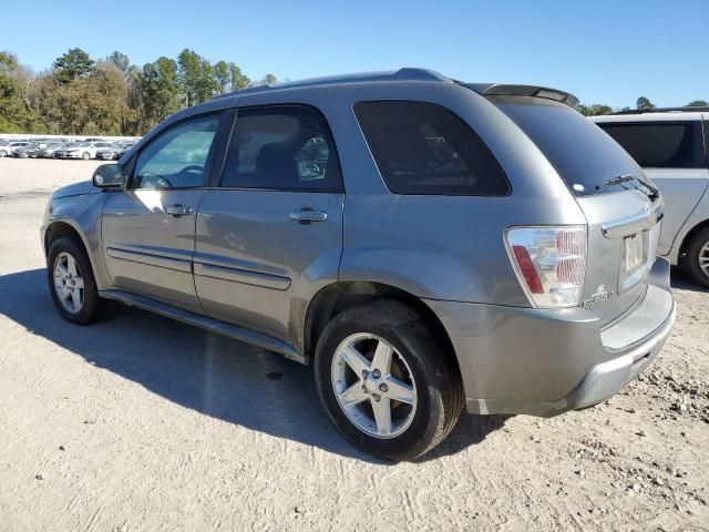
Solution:
<path fill-rule="evenodd" d="M 81 277 L 83 277 L 83 304 L 79 311 L 70 311 L 64 307 L 54 286 L 54 265 L 56 257 L 62 253 L 69 254 L 74 258 L 79 266 Z M 50 246 L 47 259 L 47 282 L 54 306 L 66 321 L 76 325 L 93 324 L 107 316 L 113 308 L 111 301 L 99 297 L 96 282 L 93 276 L 93 270 L 91 269 L 91 262 L 86 256 L 83 244 L 78 243 L 73 238 L 60 237 Z"/>

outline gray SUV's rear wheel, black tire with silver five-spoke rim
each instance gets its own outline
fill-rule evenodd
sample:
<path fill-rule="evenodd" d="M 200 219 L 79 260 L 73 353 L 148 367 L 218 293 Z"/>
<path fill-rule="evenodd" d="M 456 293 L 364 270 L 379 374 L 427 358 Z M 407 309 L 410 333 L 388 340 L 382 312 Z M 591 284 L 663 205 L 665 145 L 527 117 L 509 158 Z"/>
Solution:
<path fill-rule="evenodd" d="M 387 460 L 412 460 L 430 451 L 451 432 L 463 409 L 463 385 L 454 354 L 424 324 L 411 307 L 378 299 L 338 314 L 318 340 L 315 379 L 328 416 L 356 447 Z M 353 366 L 359 364 L 361 369 L 361 362 L 369 364 L 367 377 L 339 355 L 347 351 L 343 346 L 349 342 L 364 356 Z M 380 365 L 374 352 L 380 346 L 393 348 L 387 375 L 381 370 L 377 375 Z M 382 388 L 382 382 L 389 386 Z M 347 400 L 342 399 L 343 390 L 352 390 L 352 406 L 347 410 L 341 406 Z M 390 399 L 393 396 L 412 401 Z M 380 429 L 386 421 L 379 423 L 374 416 L 374 408 L 386 409 L 383 405 L 391 406 L 389 418 L 379 418 L 390 420 L 389 433 Z"/>

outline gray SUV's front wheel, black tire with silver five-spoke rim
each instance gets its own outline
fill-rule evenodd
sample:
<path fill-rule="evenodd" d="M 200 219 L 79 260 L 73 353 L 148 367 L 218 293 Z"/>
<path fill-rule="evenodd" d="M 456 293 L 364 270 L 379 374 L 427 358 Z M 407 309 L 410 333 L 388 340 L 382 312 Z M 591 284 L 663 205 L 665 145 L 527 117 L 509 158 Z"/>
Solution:
<path fill-rule="evenodd" d="M 74 260 L 74 268 L 66 264 L 68 258 Z M 72 279 L 55 277 L 55 275 L 59 275 L 58 264 L 72 274 L 73 285 Z M 83 289 L 79 288 L 79 279 L 83 282 Z M 93 324 L 105 317 L 112 308 L 111 301 L 99 297 L 91 262 L 83 245 L 76 243 L 73 238 L 60 237 L 50 246 L 47 259 L 47 282 L 54 306 L 66 321 L 76 325 Z M 60 286 L 65 286 L 76 296 L 70 294 L 68 297 L 61 298 Z M 71 290 L 70 286 L 73 286 L 73 290 Z M 76 299 L 74 297 L 81 299 L 80 305 L 75 304 Z"/>

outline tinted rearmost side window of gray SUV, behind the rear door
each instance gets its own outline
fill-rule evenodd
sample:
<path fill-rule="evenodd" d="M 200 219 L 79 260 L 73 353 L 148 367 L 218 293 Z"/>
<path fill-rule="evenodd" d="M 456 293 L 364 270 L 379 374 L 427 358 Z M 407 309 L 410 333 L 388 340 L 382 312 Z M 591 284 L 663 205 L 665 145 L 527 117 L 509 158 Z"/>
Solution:
<path fill-rule="evenodd" d="M 503 196 L 510 184 L 483 141 L 448 109 L 409 101 L 359 102 L 354 114 L 394 194 Z"/>

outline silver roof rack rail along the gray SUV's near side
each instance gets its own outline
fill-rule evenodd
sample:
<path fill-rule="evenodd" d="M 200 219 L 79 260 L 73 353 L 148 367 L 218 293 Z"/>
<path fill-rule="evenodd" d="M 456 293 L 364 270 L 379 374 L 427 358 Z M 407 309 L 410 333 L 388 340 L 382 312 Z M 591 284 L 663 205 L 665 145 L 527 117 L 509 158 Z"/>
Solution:
<path fill-rule="evenodd" d="M 216 96 L 215 100 L 223 98 L 239 96 L 242 94 L 251 94 L 255 92 L 264 92 L 276 89 L 290 89 L 300 86 L 314 86 L 314 85 L 331 85 L 339 83 L 358 83 L 368 81 L 438 81 L 451 83 L 452 80 L 433 70 L 418 69 L 405 66 L 395 71 L 386 72 L 362 72 L 358 74 L 343 74 L 343 75 L 329 75 L 323 78 L 310 78 L 298 81 L 285 81 L 280 83 L 274 83 L 273 85 L 259 85 L 250 89 L 242 89 L 240 91 L 229 92 Z"/>

